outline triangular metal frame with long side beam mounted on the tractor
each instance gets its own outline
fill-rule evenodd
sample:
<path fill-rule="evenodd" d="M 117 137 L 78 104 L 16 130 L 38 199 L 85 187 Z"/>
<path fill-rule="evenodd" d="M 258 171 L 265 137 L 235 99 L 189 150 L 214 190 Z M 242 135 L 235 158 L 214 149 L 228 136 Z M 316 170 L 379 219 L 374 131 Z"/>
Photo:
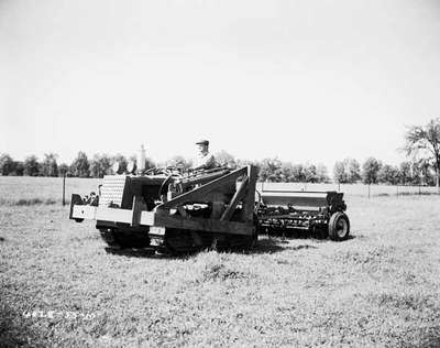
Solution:
<path fill-rule="evenodd" d="M 229 202 L 226 200 L 226 195 L 231 193 L 231 185 L 235 185 L 240 178 L 241 182 L 232 198 Z M 130 227 L 164 227 L 200 232 L 252 236 L 255 232 L 255 184 L 256 168 L 249 165 L 183 193 L 158 205 L 154 211 L 146 211 L 144 198 L 140 195 L 133 197 L 132 209 L 84 205 L 78 195 L 73 195 L 70 219 L 122 222 Z M 186 215 L 183 207 L 193 202 L 212 204 L 212 216 L 210 218 L 195 218 Z M 239 205 L 242 208 L 239 221 L 231 221 Z M 182 214 L 176 214 L 176 211 Z"/>

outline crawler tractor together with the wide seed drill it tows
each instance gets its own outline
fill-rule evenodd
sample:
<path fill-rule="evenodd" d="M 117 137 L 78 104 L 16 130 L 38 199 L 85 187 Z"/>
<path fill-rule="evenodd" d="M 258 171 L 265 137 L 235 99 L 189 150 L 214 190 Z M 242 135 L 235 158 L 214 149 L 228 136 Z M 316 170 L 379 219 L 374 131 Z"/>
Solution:
<path fill-rule="evenodd" d="M 103 177 L 98 195 L 72 196 L 70 219 L 96 220 L 111 247 L 182 254 L 207 248 L 249 249 L 258 232 L 328 230 L 346 239 L 349 218 L 336 192 L 256 192 L 256 167 L 182 175 L 154 168 Z"/>

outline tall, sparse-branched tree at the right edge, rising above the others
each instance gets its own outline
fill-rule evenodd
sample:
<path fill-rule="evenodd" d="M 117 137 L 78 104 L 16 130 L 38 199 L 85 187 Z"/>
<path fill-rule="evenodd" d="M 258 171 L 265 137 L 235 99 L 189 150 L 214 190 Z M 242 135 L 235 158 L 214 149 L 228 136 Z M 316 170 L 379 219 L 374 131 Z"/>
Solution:
<path fill-rule="evenodd" d="M 405 134 L 405 151 L 407 155 L 422 156 L 433 162 L 436 185 L 440 185 L 440 118 L 432 119 L 428 124 L 411 126 Z"/>

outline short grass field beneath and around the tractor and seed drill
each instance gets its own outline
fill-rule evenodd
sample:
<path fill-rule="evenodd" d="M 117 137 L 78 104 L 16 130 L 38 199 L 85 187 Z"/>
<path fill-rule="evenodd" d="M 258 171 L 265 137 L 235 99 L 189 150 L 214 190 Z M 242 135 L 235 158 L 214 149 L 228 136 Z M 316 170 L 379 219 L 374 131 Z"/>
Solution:
<path fill-rule="evenodd" d="M 169 259 L 107 251 L 67 207 L 16 204 L 58 203 L 59 186 L 4 180 L 0 346 L 440 346 L 437 195 L 349 195 L 344 242 L 261 236 Z"/>

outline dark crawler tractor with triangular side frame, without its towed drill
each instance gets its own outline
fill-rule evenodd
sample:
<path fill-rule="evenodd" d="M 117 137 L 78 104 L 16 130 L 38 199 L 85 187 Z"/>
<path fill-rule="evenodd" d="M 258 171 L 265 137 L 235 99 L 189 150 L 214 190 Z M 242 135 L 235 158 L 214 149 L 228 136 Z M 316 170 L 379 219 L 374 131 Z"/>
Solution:
<path fill-rule="evenodd" d="M 162 170 L 108 175 L 99 195 L 73 195 L 70 219 L 96 220 L 111 247 L 182 254 L 206 248 L 246 249 L 257 237 L 256 170 L 216 168 L 191 175 Z"/>

